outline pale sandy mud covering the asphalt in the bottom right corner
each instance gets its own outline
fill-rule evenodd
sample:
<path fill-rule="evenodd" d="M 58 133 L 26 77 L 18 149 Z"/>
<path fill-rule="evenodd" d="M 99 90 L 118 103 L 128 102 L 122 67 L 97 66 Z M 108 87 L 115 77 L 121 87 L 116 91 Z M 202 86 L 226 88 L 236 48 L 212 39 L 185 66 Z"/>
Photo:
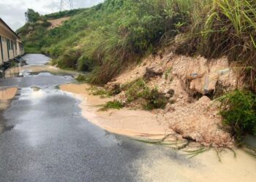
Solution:
<path fill-rule="evenodd" d="M 230 152 L 222 152 L 219 162 L 214 152 L 208 151 L 190 162 L 184 162 L 178 154 L 159 158 L 159 154 L 147 152 L 145 155 L 152 160 L 146 163 L 138 160 L 136 165 L 140 165 L 139 175 L 144 181 L 255 181 L 255 158 L 244 151 L 237 151 L 236 158 Z"/>

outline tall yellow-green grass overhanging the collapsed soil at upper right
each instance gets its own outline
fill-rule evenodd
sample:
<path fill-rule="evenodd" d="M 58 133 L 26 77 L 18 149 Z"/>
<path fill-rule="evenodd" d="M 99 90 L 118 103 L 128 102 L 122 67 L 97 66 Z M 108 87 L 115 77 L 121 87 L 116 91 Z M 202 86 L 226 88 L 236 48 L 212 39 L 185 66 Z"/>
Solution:
<path fill-rule="evenodd" d="M 207 58 L 227 55 L 230 60 L 243 63 L 244 71 L 250 68 L 250 76 L 246 78 L 250 79 L 251 89 L 256 91 L 256 1 L 197 1 L 189 17 L 189 39 L 178 52 L 201 54 Z"/>

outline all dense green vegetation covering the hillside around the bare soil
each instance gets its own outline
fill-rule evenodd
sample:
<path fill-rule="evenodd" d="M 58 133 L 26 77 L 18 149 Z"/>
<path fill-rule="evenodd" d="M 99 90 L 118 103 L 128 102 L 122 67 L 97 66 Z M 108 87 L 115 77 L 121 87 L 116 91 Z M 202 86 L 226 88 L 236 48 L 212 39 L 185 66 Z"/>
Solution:
<path fill-rule="evenodd" d="M 67 16 L 71 18 L 59 28 L 48 30 L 48 19 Z M 177 44 L 173 38 L 178 34 L 177 53 L 206 58 L 227 55 L 244 71 L 251 92 L 226 95 L 221 114 L 237 135 L 255 128 L 255 0 L 106 0 L 89 9 L 40 18 L 18 30 L 26 52 L 44 52 L 61 68 L 89 71 L 89 82 L 95 84 L 105 84 L 159 47 Z M 152 90 L 151 98 L 155 95 L 159 98 Z M 162 106 L 165 100 L 159 102 Z M 244 114 L 248 125 L 241 119 Z"/>

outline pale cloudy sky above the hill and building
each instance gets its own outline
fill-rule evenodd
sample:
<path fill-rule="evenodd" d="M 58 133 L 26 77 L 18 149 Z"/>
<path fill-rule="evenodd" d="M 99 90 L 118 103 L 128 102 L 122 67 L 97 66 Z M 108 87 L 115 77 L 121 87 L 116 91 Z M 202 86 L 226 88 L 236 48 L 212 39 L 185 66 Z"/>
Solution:
<path fill-rule="evenodd" d="M 104 0 L 73 0 L 74 8 L 92 7 Z M 26 9 L 41 15 L 58 12 L 61 0 L 0 0 L 0 17 L 16 31 L 25 23 Z"/>

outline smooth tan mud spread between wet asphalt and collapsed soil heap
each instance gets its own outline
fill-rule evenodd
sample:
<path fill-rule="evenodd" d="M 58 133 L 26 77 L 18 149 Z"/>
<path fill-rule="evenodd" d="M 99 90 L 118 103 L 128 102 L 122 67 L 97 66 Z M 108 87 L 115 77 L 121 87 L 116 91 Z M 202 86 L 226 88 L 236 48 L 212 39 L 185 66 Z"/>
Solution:
<path fill-rule="evenodd" d="M 81 99 L 80 108 L 83 116 L 110 132 L 121 135 L 155 136 L 162 138 L 168 131 L 168 125 L 160 124 L 157 116 L 149 111 L 135 111 L 124 108 L 121 110 L 99 111 L 99 106 L 105 104 L 110 98 L 99 98 L 89 95 L 89 84 L 64 84 L 60 89 L 70 92 L 74 97 Z"/>

